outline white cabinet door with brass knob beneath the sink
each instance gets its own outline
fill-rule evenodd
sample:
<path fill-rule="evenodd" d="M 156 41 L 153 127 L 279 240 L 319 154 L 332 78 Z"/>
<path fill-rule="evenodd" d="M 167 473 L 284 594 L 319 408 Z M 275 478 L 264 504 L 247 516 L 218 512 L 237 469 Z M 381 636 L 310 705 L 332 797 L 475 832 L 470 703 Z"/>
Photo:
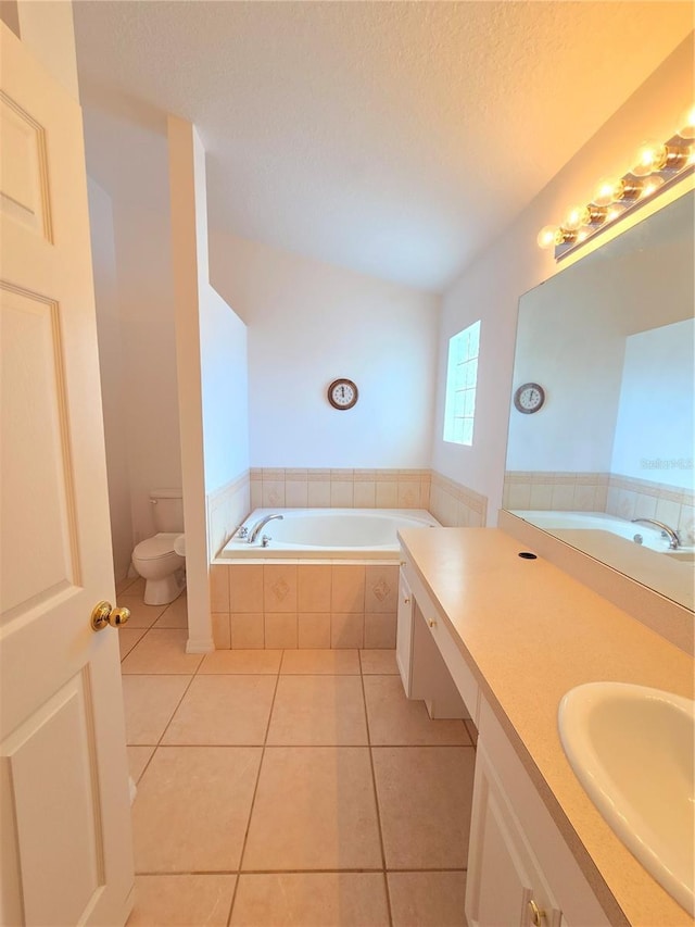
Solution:
<path fill-rule="evenodd" d="M 538 863 L 479 742 L 468 851 L 469 927 L 559 927 Z"/>

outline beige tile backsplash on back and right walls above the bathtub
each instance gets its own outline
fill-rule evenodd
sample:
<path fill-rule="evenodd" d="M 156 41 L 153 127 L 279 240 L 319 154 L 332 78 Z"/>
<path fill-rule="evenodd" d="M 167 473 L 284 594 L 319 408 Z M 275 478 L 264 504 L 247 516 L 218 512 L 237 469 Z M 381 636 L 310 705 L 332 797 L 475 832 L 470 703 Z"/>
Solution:
<path fill-rule="evenodd" d="M 252 509 L 427 509 L 446 527 L 486 518 L 486 497 L 430 469 L 252 468 L 250 480 Z"/>

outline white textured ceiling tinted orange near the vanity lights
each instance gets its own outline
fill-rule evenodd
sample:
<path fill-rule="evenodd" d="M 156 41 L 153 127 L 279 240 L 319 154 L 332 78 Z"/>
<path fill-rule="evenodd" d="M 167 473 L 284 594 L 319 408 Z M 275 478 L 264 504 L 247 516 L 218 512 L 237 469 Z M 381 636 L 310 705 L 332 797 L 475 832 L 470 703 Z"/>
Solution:
<path fill-rule="evenodd" d="M 211 225 L 441 290 L 693 28 L 690 2 L 74 4 L 90 174 L 166 204 L 166 113 Z"/>

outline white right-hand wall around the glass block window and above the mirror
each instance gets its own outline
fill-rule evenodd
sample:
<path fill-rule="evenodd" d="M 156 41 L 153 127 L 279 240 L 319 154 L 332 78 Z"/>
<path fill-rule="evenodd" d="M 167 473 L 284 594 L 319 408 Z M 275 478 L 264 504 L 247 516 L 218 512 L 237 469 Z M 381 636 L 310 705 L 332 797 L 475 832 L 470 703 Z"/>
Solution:
<path fill-rule="evenodd" d="M 673 134 L 692 102 L 692 61 L 691 36 L 444 295 L 432 467 L 488 496 L 491 525 L 496 524 L 502 502 L 518 300 L 558 270 L 552 254 L 538 247 L 538 231 L 558 222 L 574 202 L 591 199 L 601 177 L 626 173 L 644 138 Z M 476 436 L 473 447 L 464 448 L 441 438 L 446 346 L 452 335 L 477 318 L 482 326 Z"/>

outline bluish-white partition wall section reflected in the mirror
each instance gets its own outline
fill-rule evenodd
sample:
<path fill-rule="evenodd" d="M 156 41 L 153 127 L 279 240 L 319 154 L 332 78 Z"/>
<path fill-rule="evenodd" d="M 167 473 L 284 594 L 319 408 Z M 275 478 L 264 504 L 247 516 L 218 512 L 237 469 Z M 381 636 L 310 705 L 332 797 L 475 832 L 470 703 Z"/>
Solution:
<path fill-rule="evenodd" d="M 695 322 L 628 338 L 612 472 L 693 490 Z"/>

